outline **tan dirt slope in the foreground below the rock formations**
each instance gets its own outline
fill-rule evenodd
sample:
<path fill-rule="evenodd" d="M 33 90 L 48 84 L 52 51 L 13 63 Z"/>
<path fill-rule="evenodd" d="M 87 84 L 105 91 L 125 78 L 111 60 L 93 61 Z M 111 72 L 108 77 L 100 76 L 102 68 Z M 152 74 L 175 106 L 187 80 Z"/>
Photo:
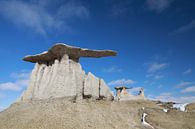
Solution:
<path fill-rule="evenodd" d="M 150 129 L 141 123 L 143 113 L 155 129 L 195 129 L 194 112 L 162 109 L 150 101 L 31 101 L 1 112 L 0 129 Z"/>

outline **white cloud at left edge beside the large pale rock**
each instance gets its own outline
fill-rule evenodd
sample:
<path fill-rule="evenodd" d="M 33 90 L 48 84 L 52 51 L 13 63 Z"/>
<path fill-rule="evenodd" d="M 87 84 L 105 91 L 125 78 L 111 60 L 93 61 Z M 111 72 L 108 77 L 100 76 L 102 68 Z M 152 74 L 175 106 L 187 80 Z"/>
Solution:
<path fill-rule="evenodd" d="M 29 74 L 29 72 L 12 73 L 11 76 L 16 78 L 16 81 L 0 83 L 0 91 L 21 91 L 28 85 Z"/>

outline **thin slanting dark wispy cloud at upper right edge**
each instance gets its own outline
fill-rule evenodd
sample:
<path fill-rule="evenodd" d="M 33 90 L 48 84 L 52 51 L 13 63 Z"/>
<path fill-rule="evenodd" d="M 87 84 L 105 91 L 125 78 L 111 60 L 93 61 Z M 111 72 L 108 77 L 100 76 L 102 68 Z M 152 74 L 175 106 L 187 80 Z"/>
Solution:
<path fill-rule="evenodd" d="M 195 20 L 192 20 L 190 23 L 179 27 L 178 29 L 174 30 L 171 34 L 180 34 L 193 29 L 195 29 Z"/>

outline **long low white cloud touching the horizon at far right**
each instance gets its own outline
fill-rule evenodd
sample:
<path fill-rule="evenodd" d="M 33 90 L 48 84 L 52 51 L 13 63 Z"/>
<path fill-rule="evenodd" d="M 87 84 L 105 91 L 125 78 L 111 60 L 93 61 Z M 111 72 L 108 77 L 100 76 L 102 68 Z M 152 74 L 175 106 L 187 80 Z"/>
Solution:
<path fill-rule="evenodd" d="M 159 96 L 149 95 L 151 100 L 160 100 L 163 102 L 177 102 L 177 103 L 192 103 L 195 102 L 195 96 L 180 96 L 175 97 L 171 93 L 162 93 Z"/>

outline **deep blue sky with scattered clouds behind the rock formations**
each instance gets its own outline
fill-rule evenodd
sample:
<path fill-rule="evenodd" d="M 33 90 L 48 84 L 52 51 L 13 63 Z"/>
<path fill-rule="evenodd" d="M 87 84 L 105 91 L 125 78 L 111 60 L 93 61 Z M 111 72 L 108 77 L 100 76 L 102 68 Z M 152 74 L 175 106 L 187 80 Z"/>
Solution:
<path fill-rule="evenodd" d="M 56 42 L 113 49 L 83 69 L 148 98 L 195 101 L 194 0 L 1 0 L 0 109 L 26 88 L 34 64 L 21 59 Z M 138 88 L 137 88 L 138 87 Z"/>

